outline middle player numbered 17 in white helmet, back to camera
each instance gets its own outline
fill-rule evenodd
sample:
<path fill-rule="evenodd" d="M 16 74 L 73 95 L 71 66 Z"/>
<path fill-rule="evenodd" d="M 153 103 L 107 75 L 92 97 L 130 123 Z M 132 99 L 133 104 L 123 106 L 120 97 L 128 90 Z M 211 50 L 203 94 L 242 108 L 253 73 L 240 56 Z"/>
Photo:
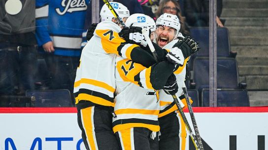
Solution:
<path fill-rule="evenodd" d="M 128 18 L 126 25 L 141 26 L 143 28 L 147 27 L 148 29 L 150 24 L 148 24 L 147 20 L 150 20 L 148 16 L 143 14 L 133 14 Z M 151 24 L 152 28 L 150 31 L 155 30 L 154 26 L 155 25 Z M 129 37 L 124 37 L 131 40 L 131 35 Z M 181 48 L 181 45 L 182 43 L 179 43 L 176 44 L 175 47 Z M 191 54 L 192 51 L 190 50 L 190 45 L 191 44 L 184 45 L 189 46 L 189 49 L 187 49 L 188 54 Z M 160 49 L 159 47 L 155 48 Z M 170 50 L 172 50 L 172 47 Z M 164 52 L 166 50 L 162 51 Z M 183 56 L 181 57 L 183 59 Z M 163 58 L 163 56 L 159 57 L 161 62 L 154 64 L 149 68 L 145 68 L 128 59 L 119 57 L 116 59 L 117 88 L 115 92 L 116 97 L 114 108 L 116 117 L 113 118 L 113 130 L 116 133 L 116 136 L 120 139 L 123 150 L 158 149 L 158 140 L 153 139 L 156 136 L 156 132 L 159 131 L 157 121 L 160 106 L 159 95 L 156 91 L 149 89 L 155 90 L 155 87 L 163 86 L 166 83 L 167 77 L 174 71 L 174 64 L 170 63 L 165 58 L 166 57 Z M 169 85 L 175 85 L 175 88 L 171 90 L 165 89 L 165 92 L 168 94 L 175 94 L 177 92 L 177 90 L 175 90 L 176 78 L 172 78 L 171 75 L 171 80 L 169 81 L 173 83 Z M 142 88 L 137 87 L 134 84 L 139 85 Z M 156 95 L 156 97 L 154 95 Z"/>

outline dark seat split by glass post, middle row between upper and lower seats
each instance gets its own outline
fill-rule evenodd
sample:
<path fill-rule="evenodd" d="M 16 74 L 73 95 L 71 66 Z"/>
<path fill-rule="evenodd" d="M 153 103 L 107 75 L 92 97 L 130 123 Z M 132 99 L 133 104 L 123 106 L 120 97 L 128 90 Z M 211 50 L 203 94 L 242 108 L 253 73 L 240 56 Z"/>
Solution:
<path fill-rule="evenodd" d="M 193 83 L 195 89 L 209 87 L 209 59 L 197 57 L 194 60 Z M 241 86 L 243 85 L 243 86 Z M 238 69 L 234 58 L 217 59 L 217 87 L 218 88 L 245 88 L 244 84 L 238 83 Z"/>

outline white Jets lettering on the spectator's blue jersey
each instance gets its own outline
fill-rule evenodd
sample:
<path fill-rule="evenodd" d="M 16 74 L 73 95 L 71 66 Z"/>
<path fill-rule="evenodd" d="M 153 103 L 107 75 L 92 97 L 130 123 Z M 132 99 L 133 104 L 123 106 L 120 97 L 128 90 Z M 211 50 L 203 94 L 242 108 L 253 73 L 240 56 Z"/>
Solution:
<path fill-rule="evenodd" d="M 56 8 L 56 12 L 59 15 L 64 15 L 66 12 L 73 12 L 73 11 L 82 11 L 87 10 L 87 5 L 85 0 L 63 0 L 62 6 L 64 10 L 60 8 Z"/>

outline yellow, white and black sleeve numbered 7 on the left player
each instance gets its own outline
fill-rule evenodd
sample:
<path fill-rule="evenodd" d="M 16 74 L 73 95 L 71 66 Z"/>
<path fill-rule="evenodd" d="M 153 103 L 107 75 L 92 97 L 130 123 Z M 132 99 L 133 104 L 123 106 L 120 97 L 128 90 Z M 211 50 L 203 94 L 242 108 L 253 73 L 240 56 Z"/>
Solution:
<path fill-rule="evenodd" d="M 119 37 L 117 32 L 110 29 L 96 29 L 95 32 L 101 38 L 101 45 L 106 53 L 115 53 L 145 67 L 156 63 L 149 52 L 142 50 L 136 44 L 127 43 L 123 38 Z"/>

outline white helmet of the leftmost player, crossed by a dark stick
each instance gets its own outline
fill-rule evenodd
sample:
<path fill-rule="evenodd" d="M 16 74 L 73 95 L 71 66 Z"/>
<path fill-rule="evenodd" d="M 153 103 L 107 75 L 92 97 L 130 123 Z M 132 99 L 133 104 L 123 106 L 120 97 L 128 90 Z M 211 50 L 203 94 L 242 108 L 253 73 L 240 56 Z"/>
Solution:
<path fill-rule="evenodd" d="M 110 4 L 115 10 L 115 12 L 118 14 L 121 20 L 123 20 L 124 17 L 130 16 L 130 11 L 122 3 L 110 2 Z M 100 17 L 101 17 L 101 21 L 112 21 L 112 19 L 114 18 L 112 12 L 110 11 L 110 9 L 108 8 L 106 4 L 104 4 L 100 10 Z"/>

